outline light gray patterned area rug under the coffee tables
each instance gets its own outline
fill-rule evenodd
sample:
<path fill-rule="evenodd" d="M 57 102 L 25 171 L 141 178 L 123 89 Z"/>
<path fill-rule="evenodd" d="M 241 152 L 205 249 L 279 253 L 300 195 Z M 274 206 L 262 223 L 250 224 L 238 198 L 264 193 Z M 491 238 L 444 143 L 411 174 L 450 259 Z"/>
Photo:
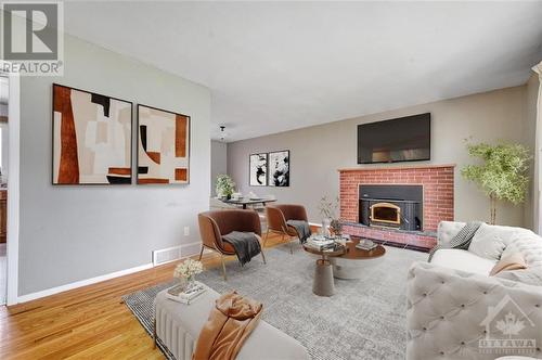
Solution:
<path fill-rule="evenodd" d="M 427 254 L 387 246 L 384 260 L 367 268 L 362 279 L 336 279 L 332 297 L 312 294 L 315 257 L 299 245 L 294 255 L 281 246 L 267 250 L 266 257 L 267 265 L 261 256 L 245 267 L 229 262 L 228 282 L 220 267 L 203 272 L 197 280 L 219 293 L 235 290 L 260 300 L 262 319 L 298 339 L 313 359 L 404 359 L 406 271 L 413 261 L 426 260 Z M 125 299 L 130 308 L 137 305 L 130 301 L 134 298 L 147 298 L 152 306 L 155 294 L 168 285 Z"/>

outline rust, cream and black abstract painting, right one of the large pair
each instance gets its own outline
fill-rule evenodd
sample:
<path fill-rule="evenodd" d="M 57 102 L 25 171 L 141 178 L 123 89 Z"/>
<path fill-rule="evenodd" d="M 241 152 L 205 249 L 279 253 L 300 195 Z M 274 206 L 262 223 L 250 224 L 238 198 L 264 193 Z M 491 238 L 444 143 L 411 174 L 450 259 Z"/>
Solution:
<path fill-rule="evenodd" d="M 138 183 L 190 181 L 190 117 L 138 105 Z"/>

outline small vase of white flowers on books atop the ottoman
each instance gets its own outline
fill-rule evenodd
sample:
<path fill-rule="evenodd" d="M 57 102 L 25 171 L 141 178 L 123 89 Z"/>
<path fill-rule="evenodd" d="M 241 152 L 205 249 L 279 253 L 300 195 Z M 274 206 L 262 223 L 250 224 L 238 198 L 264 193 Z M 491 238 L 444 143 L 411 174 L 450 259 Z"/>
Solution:
<path fill-rule="evenodd" d="M 203 263 L 197 260 L 186 259 L 179 263 L 173 271 L 173 278 L 179 284 L 170 287 L 168 294 L 180 303 L 189 304 L 205 291 L 205 286 L 195 281 L 195 275 L 203 271 Z M 171 298 L 171 297 L 170 297 Z"/>

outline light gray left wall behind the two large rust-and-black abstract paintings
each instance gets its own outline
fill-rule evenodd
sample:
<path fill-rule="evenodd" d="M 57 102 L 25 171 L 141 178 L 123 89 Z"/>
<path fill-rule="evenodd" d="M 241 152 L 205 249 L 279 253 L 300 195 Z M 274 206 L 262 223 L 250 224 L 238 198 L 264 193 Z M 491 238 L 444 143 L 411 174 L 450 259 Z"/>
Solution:
<path fill-rule="evenodd" d="M 190 115 L 191 183 L 51 185 L 53 82 Z M 209 200 L 207 88 L 66 35 L 64 76 L 22 77 L 21 97 L 18 295 L 147 265 L 154 249 L 198 250 L 196 214 Z"/>

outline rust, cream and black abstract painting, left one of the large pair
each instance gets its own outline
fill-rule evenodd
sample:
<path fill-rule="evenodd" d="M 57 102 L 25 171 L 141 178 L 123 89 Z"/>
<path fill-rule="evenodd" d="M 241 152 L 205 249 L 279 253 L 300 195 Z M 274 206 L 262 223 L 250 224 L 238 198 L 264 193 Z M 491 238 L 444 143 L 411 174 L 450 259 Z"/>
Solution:
<path fill-rule="evenodd" d="M 131 183 L 132 103 L 53 85 L 53 184 Z"/>

